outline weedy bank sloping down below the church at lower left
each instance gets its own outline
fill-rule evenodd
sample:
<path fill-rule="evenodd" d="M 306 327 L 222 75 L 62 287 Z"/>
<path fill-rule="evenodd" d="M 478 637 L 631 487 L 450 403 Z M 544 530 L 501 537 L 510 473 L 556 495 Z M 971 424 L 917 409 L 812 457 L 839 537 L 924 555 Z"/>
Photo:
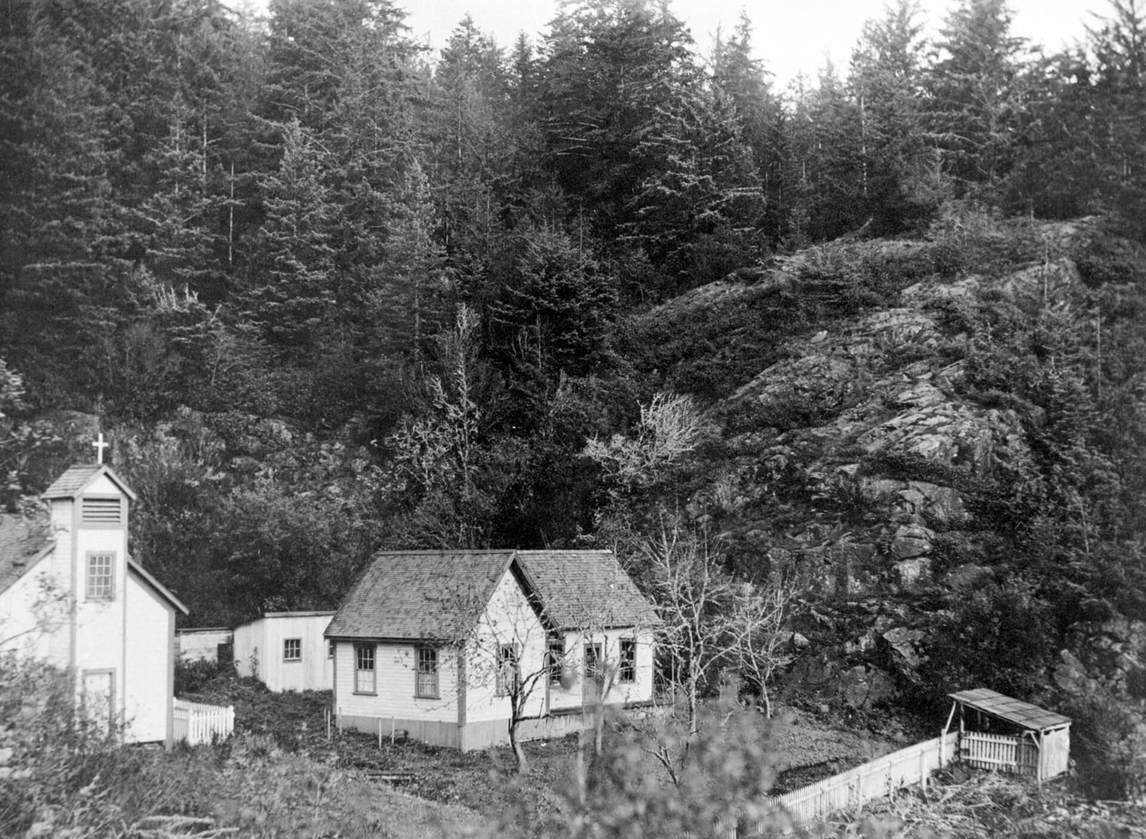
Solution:
<path fill-rule="evenodd" d="M 6 837 L 455 837 L 476 815 L 378 787 L 243 732 L 215 746 L 117 747 L 74 718 L 56 675 L 0 666 Z"/>

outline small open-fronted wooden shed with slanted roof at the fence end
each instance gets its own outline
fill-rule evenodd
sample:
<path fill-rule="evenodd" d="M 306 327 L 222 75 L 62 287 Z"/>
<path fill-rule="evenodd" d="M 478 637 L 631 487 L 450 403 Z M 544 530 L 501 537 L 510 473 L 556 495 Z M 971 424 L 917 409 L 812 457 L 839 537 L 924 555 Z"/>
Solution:
<path fill-rule="evenodd" d="M 1070 718 L 987 688 L 949 695 L 945 735 L 959 719 L 959 760 L 1046 781 L 1067 770 Z"/>

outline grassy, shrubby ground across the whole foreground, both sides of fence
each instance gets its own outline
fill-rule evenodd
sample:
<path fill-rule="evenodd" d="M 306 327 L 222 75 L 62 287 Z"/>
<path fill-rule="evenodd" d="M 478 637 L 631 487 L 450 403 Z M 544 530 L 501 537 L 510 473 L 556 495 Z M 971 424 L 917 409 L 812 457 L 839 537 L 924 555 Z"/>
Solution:
<path fill-rule="evenodd" d="M 523 778 L 507 748 L 461 754 L 407 742 L 379 747 L 356 734 L 328 738 L 329 695 L 276 695 L 231 676 L 202 683 L 197 696 L 235 703 L 235 737 L 165 753 L 94 737 L 60 701 L 50 673 L 5 665 L 0 831 L 13 837 L 706 834 L 730 811 L 764 815 L 759 803 L 777 768 L 833 754 L 817 746 L 827 730 L 807 720 L 777 728 L 758 712 L 717 704 L 696 737 L 670 722 L 613 721 L 599 750 L 575 737 L 529 744 Z M 848 750 L 857 762 L 890 747 L 869 737 Z M 843 768 L 818 766 L 823 774 Z M 1141 805 L 1088 802 L 1069 778 L 1036 787 L 956 767 L 925 793 L 904 790 L 811 832 L 1099 839 L 1141 836 L 1144 816 Z M 764 824 L 782 831 L 786 820 L 764 816 Z"/>

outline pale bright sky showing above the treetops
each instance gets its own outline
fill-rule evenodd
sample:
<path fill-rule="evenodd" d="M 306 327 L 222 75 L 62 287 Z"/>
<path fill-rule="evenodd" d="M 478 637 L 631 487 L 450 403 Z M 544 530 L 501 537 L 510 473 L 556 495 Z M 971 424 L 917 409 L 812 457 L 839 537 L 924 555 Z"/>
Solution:
<path fill-rule="evenodd" d="M 923 0 L 920 6 L 932 31 L 943 22 L 955 0 Z M 554 17 L 556 0 L 399 0 L 409 13 L 407 23 L 418 40 L 437 49 L 469 11 L 478 28 L 500 46 L 511 47 L 524 31 L 534 42 Z M 672 0 L 673 13 L 692 32 L 701 55 L 711 52 L 717 28 L 728 32 L 740 9 L 753 23 L 756 57 L 764 61 L 776 81 L 785 85 L 800 72 L 815 77 L 830 55 L 835 66 L 847 69 L 865 21 L 881 17 L 885 0 Z M 1054 52 L 1082 39 L 1091 11 L 1106 14 L 1107 0 L 1011 0 L 1013 33 Z"/>

